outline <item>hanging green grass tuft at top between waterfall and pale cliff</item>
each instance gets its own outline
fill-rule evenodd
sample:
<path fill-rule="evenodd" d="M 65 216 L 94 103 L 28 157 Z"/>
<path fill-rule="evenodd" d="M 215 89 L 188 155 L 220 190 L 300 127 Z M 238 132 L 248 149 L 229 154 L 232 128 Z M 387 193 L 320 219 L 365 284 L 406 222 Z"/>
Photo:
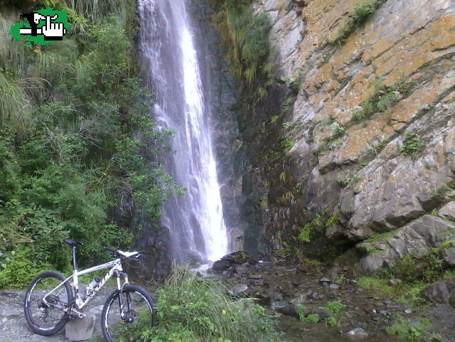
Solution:
<path fill-rule="evenodd" d="M 267 33 L 270 29 L 267 14 L 252 14 L 252 0 L 217 0 L 215 18 L 225 43 L 229 47 L 228 60 L 238 78 L 248 85 L 261 74 L 269 55 Z"/>

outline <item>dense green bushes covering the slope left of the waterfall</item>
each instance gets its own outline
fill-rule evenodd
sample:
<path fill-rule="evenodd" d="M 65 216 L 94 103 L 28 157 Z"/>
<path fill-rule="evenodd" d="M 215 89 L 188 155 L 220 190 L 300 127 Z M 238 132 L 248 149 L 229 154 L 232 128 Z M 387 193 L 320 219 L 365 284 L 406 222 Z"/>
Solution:
<path fill-rule="evenodd" d="M 102 245 L 129 247 L 114 209 L 130 203 L 156 220 L 168 192 L 181 190 L 140 153 L 158 152 L 171 133 L 154 129 L 137 78 L 135 1 L 37 0 L 2 11 L 1 27 L 44 6 L 68 11 L 65 41 L 26 46 L 0 33 L 0 287 L 65 271 L 64 237 L 85 242 L 81 265 L 102 261 Z"/>

